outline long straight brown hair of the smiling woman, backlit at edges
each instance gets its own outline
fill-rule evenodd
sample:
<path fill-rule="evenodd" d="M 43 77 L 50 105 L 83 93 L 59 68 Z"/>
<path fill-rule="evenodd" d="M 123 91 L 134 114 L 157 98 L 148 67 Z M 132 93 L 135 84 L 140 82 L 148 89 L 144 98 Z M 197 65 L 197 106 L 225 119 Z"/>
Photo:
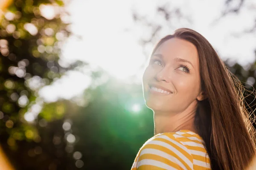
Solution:
<path fill-rule="evenodd" d="M 192 29 L 179 28 L 163 37 L 152 54 L 171 38 L 187 40 L 198 50 L 201 89 L 207 99 L 198 101 L 195 128 L 204 139 L 211 169 L 244 170 L 256 154 L 255 129 L 245 108 L 244 86 L 206 38 Z"/>

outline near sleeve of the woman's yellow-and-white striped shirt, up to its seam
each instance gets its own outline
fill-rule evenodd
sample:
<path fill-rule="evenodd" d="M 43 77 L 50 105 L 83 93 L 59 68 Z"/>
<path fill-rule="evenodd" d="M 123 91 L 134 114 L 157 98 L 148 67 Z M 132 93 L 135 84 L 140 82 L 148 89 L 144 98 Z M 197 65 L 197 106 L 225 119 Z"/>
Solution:
<path fill-rule="evenodd" d="M 175 133 L 160 133 L 140 148 L 131 170 L 193 170 L 193 157 Z"/>

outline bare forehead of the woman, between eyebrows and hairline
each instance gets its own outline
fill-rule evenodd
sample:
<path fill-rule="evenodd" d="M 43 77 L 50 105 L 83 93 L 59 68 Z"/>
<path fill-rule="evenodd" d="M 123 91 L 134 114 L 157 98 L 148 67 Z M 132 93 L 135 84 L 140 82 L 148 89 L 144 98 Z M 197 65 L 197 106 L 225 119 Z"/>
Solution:
<path fill-rule="evenodd" d="M 178 38 L 163 42 L 154 54 L 162 54 L 165 59 L 180 57 L 189 60 L 195 66 L 198 64 L 198 51 L 194 44 Z"/>

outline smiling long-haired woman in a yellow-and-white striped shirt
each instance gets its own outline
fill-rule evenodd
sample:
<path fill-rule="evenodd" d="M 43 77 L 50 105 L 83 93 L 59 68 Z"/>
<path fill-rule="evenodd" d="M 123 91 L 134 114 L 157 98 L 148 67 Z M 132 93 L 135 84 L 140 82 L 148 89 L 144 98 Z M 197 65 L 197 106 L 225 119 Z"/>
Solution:
<path fill-rule="evenodd" d="M 180 28 L 161 39 L 143 74 L 154 137 L 132 170 L 244 170 L 255 155 L 255 129 L 243 87 L 210 43 Z"/>

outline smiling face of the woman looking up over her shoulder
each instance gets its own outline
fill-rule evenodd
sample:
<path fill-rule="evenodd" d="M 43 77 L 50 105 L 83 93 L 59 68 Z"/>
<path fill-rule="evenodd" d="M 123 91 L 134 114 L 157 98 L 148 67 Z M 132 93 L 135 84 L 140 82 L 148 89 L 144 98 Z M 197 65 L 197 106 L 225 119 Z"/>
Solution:
<path fill-rule="evenodd" d="M 163 42 L 143 74 L 145 103 L 153 111 L 180 113 L 200 99 L 198 51 L 177 38 Z"/>

